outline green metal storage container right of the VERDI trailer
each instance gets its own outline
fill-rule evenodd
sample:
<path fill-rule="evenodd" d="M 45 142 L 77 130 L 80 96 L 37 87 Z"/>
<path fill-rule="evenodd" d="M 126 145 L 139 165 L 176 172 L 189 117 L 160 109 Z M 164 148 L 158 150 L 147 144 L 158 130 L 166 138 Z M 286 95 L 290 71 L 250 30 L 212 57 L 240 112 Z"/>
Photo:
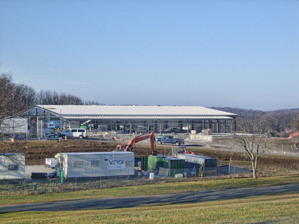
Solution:
<path fill-rule="evenodd" d="M 185 160 L 170 156 L 149 156 L 141 157 L 142 170 L 151 170 L 157 168 L 159 173 L 164 168 L 164 175 L 168 177 L 175 177 L 176 174 L 183 174 L 185 172 Z M 168 169 L 165 171 L 165 169 Z M 166 172 L 166 173 L 165 173 Z"/>

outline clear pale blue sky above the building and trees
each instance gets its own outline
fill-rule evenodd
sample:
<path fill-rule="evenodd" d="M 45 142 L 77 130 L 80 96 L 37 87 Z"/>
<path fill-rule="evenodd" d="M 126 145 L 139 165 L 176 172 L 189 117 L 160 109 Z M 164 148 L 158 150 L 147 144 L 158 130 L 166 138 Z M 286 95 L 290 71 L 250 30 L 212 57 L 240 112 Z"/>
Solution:
<path fill-rule="evenodd" d="M 0 70 L 106 105 L 299 108 L 299 1 L 0 2 Z"/>

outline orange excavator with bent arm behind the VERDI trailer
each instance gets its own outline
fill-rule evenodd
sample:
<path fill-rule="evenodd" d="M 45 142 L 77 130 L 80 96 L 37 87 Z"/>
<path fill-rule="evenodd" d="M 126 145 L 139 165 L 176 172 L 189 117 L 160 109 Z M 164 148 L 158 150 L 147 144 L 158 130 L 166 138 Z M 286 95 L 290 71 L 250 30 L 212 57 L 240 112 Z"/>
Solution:
<path fill-rule="evenodd" d="M 141 142 L 145 139 L 149 139 L 150 140 L 150 148 L 151 148 L 151 152 L 152 155 L 155 155 L 157 153 L 157 151 L 155 151 L 155 147 L 156 147 L 156 143 L 155 143 L 155 132 L 151 131 L 149 134 L 149 132 L 144 133 L 142 135 L 139 135 L 135 138 L 132 138 L 128 145 L 118 145 L 116 146 L 116 150 L 113 150 L 113 152 L 126 152 L 126 151 L 132 151 L 134 144 L 137 142 Z"/>

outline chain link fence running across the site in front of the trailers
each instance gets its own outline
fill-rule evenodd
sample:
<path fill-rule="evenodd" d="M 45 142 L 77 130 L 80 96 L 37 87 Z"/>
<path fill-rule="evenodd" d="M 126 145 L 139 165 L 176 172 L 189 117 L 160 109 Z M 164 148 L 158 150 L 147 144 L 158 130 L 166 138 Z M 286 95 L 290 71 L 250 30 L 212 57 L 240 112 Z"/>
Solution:
<path fill-rule="evenodd" d="M 40 179 L 17 179 L 17 180 L 0 180 L 0 194 L 42 194 L 51 192 L 80 191 L 100 188 L 125 187 L 134 185 L 159 184 L 166 182 L 184 182 L 200 181 L 208 177 L 201 177 L 202 172 L 194 170 L 185 170 L 183 174 L 171 171 L 178 177 L 167 177 L 167 175 L 158 175 L 158 171 L 140 172 L 141 177 L 135 175 L 115 176 L 115 177 L 75 177 L 63 178 L 40 178 Z M 151 174 L 153 173 L 153 174 Z M 281 176 L 281 175 L 298 175 L 299 163 L 275 165 L 259 165 L 257 168 L 257 177 Z M 248 163 L 238 161 L 218 161 L 217 177 L 234 178 L 234 177 L 251 177 L 252 167 Z M 150 176 L 153 176 L 150 178 Z M 213 176 L 213 178 L 215 178 Z"/>

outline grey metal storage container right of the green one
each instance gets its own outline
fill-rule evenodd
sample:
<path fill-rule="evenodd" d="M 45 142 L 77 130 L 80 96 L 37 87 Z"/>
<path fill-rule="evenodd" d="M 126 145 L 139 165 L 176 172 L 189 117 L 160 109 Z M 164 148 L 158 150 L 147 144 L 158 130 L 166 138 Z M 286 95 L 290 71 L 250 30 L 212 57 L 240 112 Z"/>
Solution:
<path fill-rule="evenodd" d="M 217 159 L 192 154 L 178 154 L 178 158 L 185 160 L 186 169 L 193 169 L 194 166 L 196 171 L 199 170 L 200 165 L 204 162 L 202 168 L 205 177 L 217 176 Z"/>

